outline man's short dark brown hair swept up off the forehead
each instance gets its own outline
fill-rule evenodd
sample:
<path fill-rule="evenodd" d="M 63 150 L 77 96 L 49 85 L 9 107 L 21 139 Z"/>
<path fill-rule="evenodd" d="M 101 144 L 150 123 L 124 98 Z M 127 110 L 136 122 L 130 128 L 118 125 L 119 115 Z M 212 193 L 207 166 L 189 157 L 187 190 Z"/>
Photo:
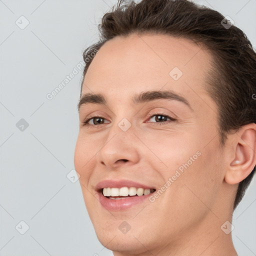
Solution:
<path fill-rule="evenodd" d="M 84 61 L 89 59 L 85 61 L 83 80 L 93 60 L 91 53 L 115 36 L 149 32 L 191 39 L 206 46 L 213 56 L 206 90 L 218 107 L 219 137 L 224 145 L 228 133 L 256 122 L 256 100 L 252 96 L 256 91 L 256 53 L 243 31 L 234 25 L 225 28 L 223 19 L 219 12 L 187 0 L 118 0 L 98 25 L 100 40 L 83 52 Z M 234 208 L 254 172 L 255 167 L 239 183 Z"/>

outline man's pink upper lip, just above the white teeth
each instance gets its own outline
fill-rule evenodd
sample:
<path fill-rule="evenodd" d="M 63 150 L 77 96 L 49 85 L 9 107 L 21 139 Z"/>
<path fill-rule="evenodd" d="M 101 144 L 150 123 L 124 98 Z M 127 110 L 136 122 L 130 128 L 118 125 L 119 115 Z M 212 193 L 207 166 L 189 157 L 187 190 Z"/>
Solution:
<path fill-rule="evenodd" d="M 101 180 L 100 182 L 98 182 L 95 186 L 95 190 L 99 191 L 102 188 L 106 188 L 106 187 L 136 187 L 136 188 L 153 188 L 153 186 L 150 185 L 146 185 L 146 184 L 142 184 L 142 183 L 138 183 L 135 182 L 133 180 L 127 180 L 127 179 L 105 179 L 105 180 Z"/>

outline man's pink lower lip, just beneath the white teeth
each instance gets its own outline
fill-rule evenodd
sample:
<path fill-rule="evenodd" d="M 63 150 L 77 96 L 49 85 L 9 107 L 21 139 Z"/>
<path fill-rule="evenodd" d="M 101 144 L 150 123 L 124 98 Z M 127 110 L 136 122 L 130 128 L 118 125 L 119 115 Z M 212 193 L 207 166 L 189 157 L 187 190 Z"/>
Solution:
<path fill-rule="evenodd" d="M 141 196 L 127 196 L 127 198 L 123 198 L 123 199 L 109 199 L 105 197 L 101 192 L 98 192 L 98 195 L 99 195 L 99 202 L 107 210 L 120 211 L 120 210 L 126 210 L 135 204 L 141 203 L 146 198 L 148 198 L 151 195 L 151 193 L 147 195 L 141 195 Z"/>

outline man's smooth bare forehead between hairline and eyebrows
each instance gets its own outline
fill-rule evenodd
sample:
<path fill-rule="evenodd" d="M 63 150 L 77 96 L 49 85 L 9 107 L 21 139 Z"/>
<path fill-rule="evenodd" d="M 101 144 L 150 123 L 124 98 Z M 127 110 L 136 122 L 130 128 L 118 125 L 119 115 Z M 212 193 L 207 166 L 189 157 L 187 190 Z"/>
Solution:
<path fill-rule="evenodd" d="M 162 34 L 117 36 L 105 42 L 84 77 L 82 94 L 127 100 L 145 90 L 171 89 L 198 100 L 211 55 L 191 40 Z M 191 92 L 194 91 L 194 95 Z"/>

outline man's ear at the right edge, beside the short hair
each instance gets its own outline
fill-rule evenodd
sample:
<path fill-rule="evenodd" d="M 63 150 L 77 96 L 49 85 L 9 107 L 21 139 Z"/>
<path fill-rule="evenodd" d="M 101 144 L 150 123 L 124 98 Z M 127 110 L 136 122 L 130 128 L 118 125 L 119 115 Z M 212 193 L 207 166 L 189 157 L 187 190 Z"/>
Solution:
<path fill-rule="evenodd" d="M 232 152 L 224 177 L 228 184 L 245 179 L 256 165 L 256 124 L 242 126 L 232 137 Z"/>

